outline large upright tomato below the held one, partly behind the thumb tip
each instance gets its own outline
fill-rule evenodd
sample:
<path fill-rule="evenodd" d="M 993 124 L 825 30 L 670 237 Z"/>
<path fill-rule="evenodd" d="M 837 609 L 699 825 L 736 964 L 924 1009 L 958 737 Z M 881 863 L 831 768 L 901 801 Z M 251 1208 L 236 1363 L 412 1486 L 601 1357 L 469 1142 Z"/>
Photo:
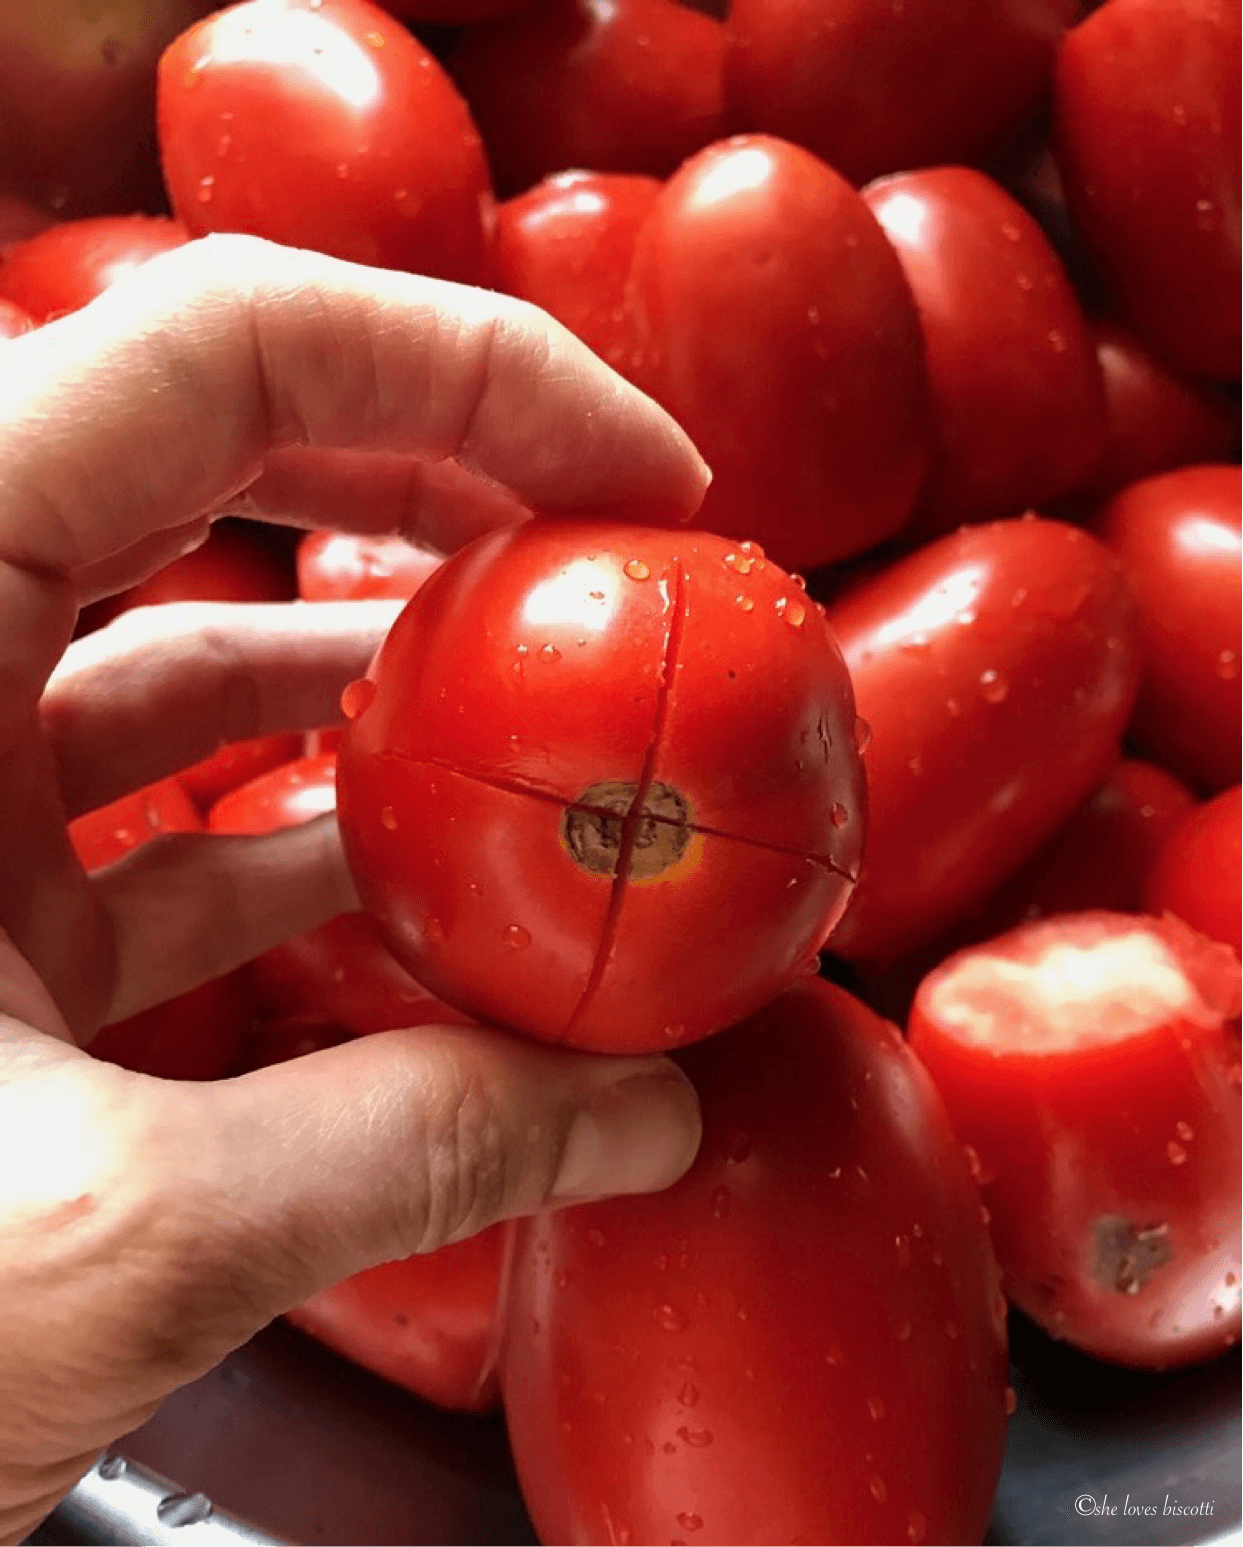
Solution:
<path fill-rule="evenodd" d="M 502 1386 L 540 1539 L 978 1542 L 1005 1303 L 932 1081 L 822 981 L 678 1061 L 687 1176 L 517 1227 Z"/>

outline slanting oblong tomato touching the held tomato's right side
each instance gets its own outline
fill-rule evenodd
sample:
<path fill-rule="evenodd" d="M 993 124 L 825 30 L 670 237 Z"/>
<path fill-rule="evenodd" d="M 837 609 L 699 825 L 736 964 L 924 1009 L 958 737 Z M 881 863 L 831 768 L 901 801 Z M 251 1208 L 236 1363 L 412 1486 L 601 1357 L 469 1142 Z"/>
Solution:
<path fill-rule="evenodd" d="M 1139 676 L 1135 603 L 1085 532 L 964 528 L 830 608 L 871 726 L 868 846 L 833 937 L 892 962 L 969 914 L 1113 763 Z"/>

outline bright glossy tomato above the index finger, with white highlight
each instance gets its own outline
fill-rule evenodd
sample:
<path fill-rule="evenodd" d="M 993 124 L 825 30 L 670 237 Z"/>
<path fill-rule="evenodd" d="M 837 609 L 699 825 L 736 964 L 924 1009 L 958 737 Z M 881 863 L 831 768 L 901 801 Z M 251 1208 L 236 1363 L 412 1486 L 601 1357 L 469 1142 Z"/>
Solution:
<path fill-rule="evenodd" d="M 477 283 L 494 206 L 466 104 L 367 0 L 248 0 L 159 62 L 159 150 L 195 235 L 246 231 Z"/>

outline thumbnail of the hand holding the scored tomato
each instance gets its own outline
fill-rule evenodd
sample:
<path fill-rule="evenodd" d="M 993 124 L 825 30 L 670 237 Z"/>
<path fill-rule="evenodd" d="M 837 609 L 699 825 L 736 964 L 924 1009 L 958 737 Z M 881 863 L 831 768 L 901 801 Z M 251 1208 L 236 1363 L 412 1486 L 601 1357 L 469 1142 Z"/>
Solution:
<path fill-rule="evenodd" d="M 700 1132 L 700 1100 L 675 1064 L 628 1075 L 574 1115 L 551 1196 L 659 1193 L 689 1170 Z"/>

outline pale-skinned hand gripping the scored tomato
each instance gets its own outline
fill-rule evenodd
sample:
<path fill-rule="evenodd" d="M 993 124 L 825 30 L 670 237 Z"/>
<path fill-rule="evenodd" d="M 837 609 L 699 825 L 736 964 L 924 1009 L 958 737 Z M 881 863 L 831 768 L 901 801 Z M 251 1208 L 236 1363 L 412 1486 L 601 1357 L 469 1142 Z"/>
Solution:
<path fill-rule="evenodd" d="M 532 308 L 220 237 L 0 343 L 0 1541 L 272 1316 L 348 1273 L 698 1146 L 663 1058 L 419 1027 L 215 1084 L 90 1057 L 107 1021 L 356 897 L 333 818 L 87 877 L 73 815 L 223 739 L 328 724 L 389 603 L 79 606 L 221 509 L 452 549 L 539 509 L 690 514 L 707 470 Z"/>

